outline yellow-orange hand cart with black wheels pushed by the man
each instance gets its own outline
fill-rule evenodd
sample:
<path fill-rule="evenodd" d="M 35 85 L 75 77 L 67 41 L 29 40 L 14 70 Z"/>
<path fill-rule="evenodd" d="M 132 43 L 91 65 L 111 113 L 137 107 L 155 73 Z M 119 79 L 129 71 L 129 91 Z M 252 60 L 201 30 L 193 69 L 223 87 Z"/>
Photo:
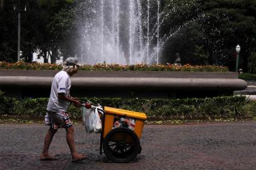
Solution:
<path fill-rule="evenodd" d="M 146 114 L 107 106 L 103 112 L 100 154 L 103 149 L 110 161 L 132 161 L 141 153 L 139 139 L 147 118 Z"/>

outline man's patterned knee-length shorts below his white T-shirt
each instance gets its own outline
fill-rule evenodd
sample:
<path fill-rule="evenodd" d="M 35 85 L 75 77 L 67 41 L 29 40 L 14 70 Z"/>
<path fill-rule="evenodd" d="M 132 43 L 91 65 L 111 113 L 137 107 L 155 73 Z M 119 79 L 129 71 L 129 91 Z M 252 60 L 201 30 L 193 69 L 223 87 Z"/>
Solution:
<path fill-rule="evenodd" d="M 50 126 L 52 129 L 57 129 L 69 128 L 72 126 L 72 123 L 69 119 L 69 115 L 64 111 L 59 113 L 47 111 L 47 115 L 45 115 L 45 125 Z"/>

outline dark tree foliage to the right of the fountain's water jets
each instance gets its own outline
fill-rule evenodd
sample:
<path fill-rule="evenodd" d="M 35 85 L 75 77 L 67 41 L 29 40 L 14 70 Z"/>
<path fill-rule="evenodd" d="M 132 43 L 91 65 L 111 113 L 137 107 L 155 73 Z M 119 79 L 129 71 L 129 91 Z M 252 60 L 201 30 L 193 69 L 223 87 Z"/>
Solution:
<path fill-rule="evenodd" d="M 247 57 L 256 45 L 256 1 L 165 2 L 162 33 L 172 35 L 163 54 L 167 60 L 174 60 L 174 54 L 179 52 L 183 62 L 198 64 L 196 50 L 203 45 L 201 50 L 207 54 L 209 64 L 226 65 L 234 70 L 235 47 L 240 44 L 240 67 L 247 71 Z"/>

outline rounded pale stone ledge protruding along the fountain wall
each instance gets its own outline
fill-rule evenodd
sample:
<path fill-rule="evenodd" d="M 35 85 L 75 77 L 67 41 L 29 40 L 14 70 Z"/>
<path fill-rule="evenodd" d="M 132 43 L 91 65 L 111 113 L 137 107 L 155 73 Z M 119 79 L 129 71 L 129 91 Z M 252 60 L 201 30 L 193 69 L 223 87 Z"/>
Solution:
<path fill-rule="evenodd" d="M 50 88 L 53 77 L 1 76 L 1 86 L 42 86 Z M 118 88 L 118 89 L 228 89 L 247 88 L 247 82 L 241 79 L 199 79 L 166 77 L 71 77 L 73 88 Z"/>

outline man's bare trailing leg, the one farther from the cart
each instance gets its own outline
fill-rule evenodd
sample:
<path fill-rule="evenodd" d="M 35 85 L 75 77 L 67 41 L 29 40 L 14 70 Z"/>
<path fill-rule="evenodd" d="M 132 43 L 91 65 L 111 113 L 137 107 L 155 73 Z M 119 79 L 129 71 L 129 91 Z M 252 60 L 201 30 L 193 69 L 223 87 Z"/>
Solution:
<path fill-rule="evenodd" d="M 42 151 L 42 154 L 40 156 L 41 160 L 54 160 L 55 158 L 52 156 L 49 156 L 48 150 L 50 147 L 50 143 L 52 142 L 52 139 L 54 138 L 55 133 L 57 132 L 57 129 L 51 129 L 49 128 L 48 132 L 45 135 L 44 139 L 44 148 Z"/>

